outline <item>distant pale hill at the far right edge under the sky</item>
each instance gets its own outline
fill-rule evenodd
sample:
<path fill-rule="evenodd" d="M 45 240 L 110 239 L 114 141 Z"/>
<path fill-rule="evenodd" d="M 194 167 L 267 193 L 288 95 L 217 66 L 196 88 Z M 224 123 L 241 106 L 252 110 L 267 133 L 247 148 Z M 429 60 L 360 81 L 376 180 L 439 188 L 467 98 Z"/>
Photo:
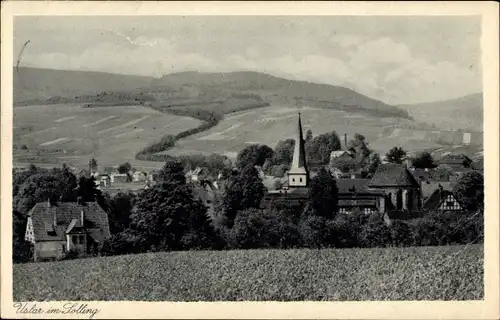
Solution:
<path fill-rule="evenodd" d="M 483 131 L 482 93 L 398 107 L 408 111 L 416 121 L 425 122 L 440 129 Z"/>

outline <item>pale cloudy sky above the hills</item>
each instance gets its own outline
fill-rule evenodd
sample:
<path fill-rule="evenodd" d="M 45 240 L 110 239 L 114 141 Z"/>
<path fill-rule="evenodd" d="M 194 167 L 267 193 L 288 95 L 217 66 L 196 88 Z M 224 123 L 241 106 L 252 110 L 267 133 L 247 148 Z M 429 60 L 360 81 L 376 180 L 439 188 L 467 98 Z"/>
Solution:
<path fill-rule="evenodd" d="M 480 37 L 476 16 L 25 16 L 14 61 L 154 77 L 251 70 L 408 104 L 481 92 Z"/>

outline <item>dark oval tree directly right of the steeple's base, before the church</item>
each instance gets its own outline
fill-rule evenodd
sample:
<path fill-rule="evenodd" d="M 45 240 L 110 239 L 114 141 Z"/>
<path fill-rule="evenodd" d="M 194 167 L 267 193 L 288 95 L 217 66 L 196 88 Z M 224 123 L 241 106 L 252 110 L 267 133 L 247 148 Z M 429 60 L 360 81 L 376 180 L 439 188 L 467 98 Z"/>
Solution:
<path fill-rule="evenodd" d="M 314 215 L 332 219 L 337 212 L 338 188 L 335 179 L 321 168 L 318 175 L 311 179 L 309 206 Z"/>

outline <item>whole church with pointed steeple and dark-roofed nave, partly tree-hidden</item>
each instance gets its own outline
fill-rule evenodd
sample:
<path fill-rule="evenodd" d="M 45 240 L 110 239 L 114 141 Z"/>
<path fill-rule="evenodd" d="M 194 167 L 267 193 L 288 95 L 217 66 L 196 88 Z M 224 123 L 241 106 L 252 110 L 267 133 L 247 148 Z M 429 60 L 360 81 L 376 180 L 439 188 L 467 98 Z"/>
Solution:
<path fill-rule="evenodd" d="M 298 115 L 295 148 L 287 181 L 270 190 L 264 203 L 301 210 L 308 200 L 311 173 L 307 166 L 302 119 Z M 365 214 L 386 211 L 416 211 L 420 208 L 420 185 L 404 165 L 381 164 L 372 179 L 337 179 L 339 213 Z"/>

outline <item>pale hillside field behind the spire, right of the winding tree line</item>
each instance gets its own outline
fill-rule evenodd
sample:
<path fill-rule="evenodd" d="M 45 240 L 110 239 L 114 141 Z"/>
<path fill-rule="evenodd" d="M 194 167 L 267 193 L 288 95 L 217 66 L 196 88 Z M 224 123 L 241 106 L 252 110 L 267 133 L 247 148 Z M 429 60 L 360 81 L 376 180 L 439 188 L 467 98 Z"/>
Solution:
<path fill-rule="evenodd" d="M 274 147 L 279 140 L 295 138 L 299 111 L 304 130 L 311 129 L 313 135 L 335 130 L 342 140 L 347 133 L 349 140 L 355 133 L 361 133 L 366 136 L 371 148 L 380 154 L 385 154 L 393 146 L 402 146 L 405 150 L 443 147 L 437 142 L 439 135 L 433 137 L 430 131 L 394 129 L 396 126 L 411 125 L 409 120 L 274 105 L 226 115 L 217 126 L 178 141 L 174 148 L 164 153 L 217 152 L 234 158 L 246 144 L 261 143 Z"/>

